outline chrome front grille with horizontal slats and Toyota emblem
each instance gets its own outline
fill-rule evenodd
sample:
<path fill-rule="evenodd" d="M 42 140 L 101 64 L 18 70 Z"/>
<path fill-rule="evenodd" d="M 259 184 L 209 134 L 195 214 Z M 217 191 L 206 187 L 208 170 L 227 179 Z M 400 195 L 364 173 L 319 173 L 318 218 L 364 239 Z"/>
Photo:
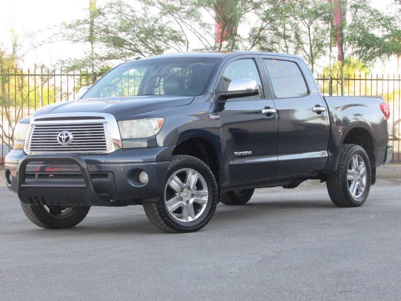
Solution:
<path fill-rule="evenodd" d="M 61 143 L 59 134 L 68 132 L 69 144 Z M 113 150 L 107 122 L 45 122 L 32 124 L 27 152 L 106 154 Z"/>

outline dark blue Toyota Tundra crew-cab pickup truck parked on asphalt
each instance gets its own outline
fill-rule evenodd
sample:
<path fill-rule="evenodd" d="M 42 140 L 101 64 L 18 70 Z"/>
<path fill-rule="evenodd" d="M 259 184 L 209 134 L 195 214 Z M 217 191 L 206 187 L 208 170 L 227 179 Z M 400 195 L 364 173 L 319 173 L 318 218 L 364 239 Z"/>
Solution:
<path fill-rule="evenodd" d="M 193 232 L 219 202 L 309 179 L 326 182 L 336 206 L 358 207 L 391 160 L 388 118 L 381 97 L 323 97 L 293 55 L 149 57 L 22 119 L 6 182 L 52 229 L 77 225 L 90 206 L 142 205 L 159 229 Z"/>

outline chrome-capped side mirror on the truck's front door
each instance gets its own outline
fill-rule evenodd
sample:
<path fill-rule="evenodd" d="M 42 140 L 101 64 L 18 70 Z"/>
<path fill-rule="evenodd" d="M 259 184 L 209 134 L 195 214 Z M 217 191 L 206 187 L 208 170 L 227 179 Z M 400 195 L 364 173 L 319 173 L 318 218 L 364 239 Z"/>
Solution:
<path fill-rule="evenodd" d="M 254 79 L 234 79 L 230 82 L 227 91 L 219 91 L 222 99 L 249 97 L 259 94 L 259 85 Z"/>

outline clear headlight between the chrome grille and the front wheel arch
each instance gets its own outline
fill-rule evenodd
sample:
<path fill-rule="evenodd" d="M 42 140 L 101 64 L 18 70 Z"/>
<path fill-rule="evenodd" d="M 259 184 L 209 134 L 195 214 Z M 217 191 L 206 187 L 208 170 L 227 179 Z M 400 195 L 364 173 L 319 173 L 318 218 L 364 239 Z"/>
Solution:
<path fill-rule="evenodd" d="M 145 138 L 157 134 L 163 123 L 163 118 L 145 118 L 118 121 L 118 127 L 121 139 Z"/>

